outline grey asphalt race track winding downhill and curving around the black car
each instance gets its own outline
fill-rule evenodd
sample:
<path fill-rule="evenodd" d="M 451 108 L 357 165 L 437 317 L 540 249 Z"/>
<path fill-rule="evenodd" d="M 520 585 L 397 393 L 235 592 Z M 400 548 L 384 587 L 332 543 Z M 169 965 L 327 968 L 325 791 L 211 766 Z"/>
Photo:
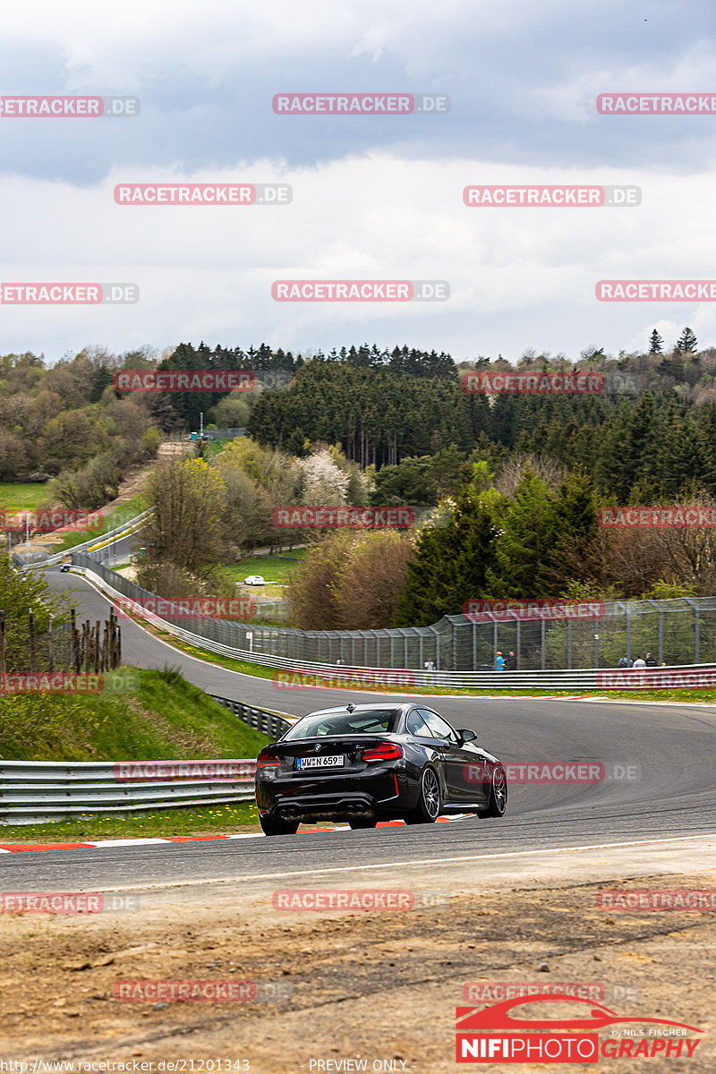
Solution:
<path fill-rule="evenodd" d="M 75 590 L 82 615 L 106 615 L 107 601 L 78 576 L 55 569 L 57 590 Z M 287 691 L 185 656 L 136 624 L 122 626 L 127 664 L 179 667 L 204 690 L 268 709 L 304 714 L 346 700 L 326 690 Z M 355 699 L 355 693 L 350 695 Z M 361 699 L 386 695 L 360 695 Z M 399 695 L 395 695 L 399 696 Z M 505 761 L 601 761 L 596 784 L 511 784 L 500 821 L 469 817 L 450 824 L 367 831 L 311 831 L 287 838 L 196 843 L 105 845 L 0 856 L 2 886 L 23 890 L 106 890 L 151 885 L 246 882 L 287 873 L 355 870 L 423 862 L 438 881 L 440 862 L 549 848 L 607 846 L 716 831 L 714 754 L 716 707 L 556 701 L 529 698 L 433 698 L 457 727 L 478 731 L 479 742 Z M 616 766 L 616 768 L 614 767 Z M 523 863 L 524 863 L 523 858 Z"/>

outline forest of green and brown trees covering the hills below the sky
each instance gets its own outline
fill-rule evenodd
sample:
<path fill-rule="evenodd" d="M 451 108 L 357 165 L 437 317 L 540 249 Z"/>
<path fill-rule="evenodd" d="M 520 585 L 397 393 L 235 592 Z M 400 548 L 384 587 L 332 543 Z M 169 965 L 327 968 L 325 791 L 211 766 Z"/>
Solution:
<path fill-rule="evenodd" d="M 303 355 L 266 345 L 87 348 L 52 367 L 11 354 L 0 358 L 0 480 L 45 481 L 65 506 L 93 508 L 163 434 L 196 430 L 203 415 L 205 426 L 248 435 L 218 453 L 200 444 L 203 459 L 155 475 L 160 510 L 142 572 L 166 596 L 215 584 L 218 566 L 258 545 L 280 546 L 272 510 L 290 504 L 436 512 L 407 535 L 294 532 L 312 547 L 292 587 L 295 625 L 425 624 L 480 597 L 711 595 L 710 531 L 607 532 L 596 521 L 601 506 L 716 503 L 716 350 L 697 346 L 685 329 L 670 353 L 654 332 L 642 354 L 590 347 L 576 363 L 526 352 L 514 364 L 456 365 L 445 353 L 368 345 Z M 154 368 L 252 369 L 257 386 L 113 388 L 117 371 Z M 600 374 L 604 390 L 485 395 L 461 379 L 575 369 Z M 162 506 L 177 503 L 194 519 L 189 533 Z"/>

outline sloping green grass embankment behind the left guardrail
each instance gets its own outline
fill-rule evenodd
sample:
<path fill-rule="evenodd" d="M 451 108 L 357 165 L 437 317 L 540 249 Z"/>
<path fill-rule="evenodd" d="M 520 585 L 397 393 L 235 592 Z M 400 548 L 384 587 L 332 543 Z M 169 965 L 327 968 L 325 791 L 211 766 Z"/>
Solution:
<path fill-rule="evenodd" d="M 126 669 L 130 670 L 130 669 Z M 9 694 L 4 760 L 188 760 L 255 757 L 268 741 L 176 671 L 136 671 L 136 693 Z"/>

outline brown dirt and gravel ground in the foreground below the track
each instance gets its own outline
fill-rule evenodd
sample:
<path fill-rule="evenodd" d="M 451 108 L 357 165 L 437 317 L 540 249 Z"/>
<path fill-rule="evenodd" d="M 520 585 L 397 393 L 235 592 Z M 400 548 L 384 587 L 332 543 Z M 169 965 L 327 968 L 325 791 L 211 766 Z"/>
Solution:
<path fill-rule="evenodd" d="M 449 871 L 435 880 L 391 885 L 412 892 L 407 912 L 277 910 L 274 882 L 233 890 L 150 889 L 134 912 L 4 913 L 0 1057 L 68 1060 L 64 1070 L 77 1072 L 82 1062 L 111 1060 L 147 1072 L 442 1074 L 465 1069 L 455 1062 L 456 1006 L 497 1002 L 499 983 L 582 983 L 582 995 L 588 987 L 589 998 L 623 1017 L 703 1030 L 691 1034 L 699 1044 L 688 1060 L 600 1058 L 597 1069 L 716 1069 L 716 915 L 605 912 L 596 898 L 605 887 L 713 889 L 716 870 L 638 881 L 605 870 L 586 883 L 574 876 L 521 886 L 476 881 L 450 891 Z M 334 886 L 367 885 L 353 875 Z M 255 995 L 238 1002 L 115 998 L 120 982 L 157 978 L 251 982 Z M 466 996 L 470 983 L 482 1000 L 474 990 Z M 561 1003 L 540 1004 L 528 1016 L 545 1013 L 574 1016 Z M 609 1032 L 602 1030 L 602 1040 Z M 179 1062 L 172 1068 L 171 1061 Z M 502 1071 L 507 1064 L 480 1066 Z"/>

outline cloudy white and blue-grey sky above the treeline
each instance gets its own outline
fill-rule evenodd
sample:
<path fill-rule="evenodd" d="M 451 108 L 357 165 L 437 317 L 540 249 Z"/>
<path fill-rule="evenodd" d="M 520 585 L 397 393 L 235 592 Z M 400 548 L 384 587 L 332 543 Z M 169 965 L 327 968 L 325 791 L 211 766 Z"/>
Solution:
<path fill-rule="evenodd" d="M 600 303 L 602 278 L 708 279 L 713 0 L 34 0 L 3 12 L 2 96 L 118 95 L 134 118 L 0 117 L 0 279 L 131 281 L 135 305 L 0 305 L 0 353 L 180 340 L 408 344 L 518 358 L 716 345 L 715 303 Z M 447 93 L 447 115 L 275 115 L 279 92 Z M 117 205 L 119 183 L 291 185 L 283 206 Z M 468 208 L 471 184 L 629 184 L 638 207 Z M 442 279 L 442 303 L 294 303 L 276 279 Z"/>

